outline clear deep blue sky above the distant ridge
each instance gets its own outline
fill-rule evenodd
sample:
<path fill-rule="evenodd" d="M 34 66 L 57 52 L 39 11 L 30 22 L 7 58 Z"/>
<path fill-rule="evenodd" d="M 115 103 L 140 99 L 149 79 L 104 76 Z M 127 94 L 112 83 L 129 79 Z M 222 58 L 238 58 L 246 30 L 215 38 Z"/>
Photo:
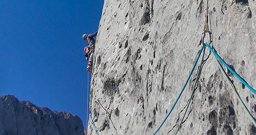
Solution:
<path fill-rule="evenodd" d="M 82 34 L 98 30 L 103 0 L 0 0 L 0 96 L 78 115 L 86 126 Z"/>

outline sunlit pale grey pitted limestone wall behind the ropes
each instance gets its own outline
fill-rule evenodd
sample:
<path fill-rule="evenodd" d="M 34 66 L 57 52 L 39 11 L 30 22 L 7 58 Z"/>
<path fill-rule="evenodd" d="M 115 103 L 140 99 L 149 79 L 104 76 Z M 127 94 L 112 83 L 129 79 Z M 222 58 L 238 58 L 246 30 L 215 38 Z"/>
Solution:
<path fill-rule="evenodd" d="M 202 47 L 206 4 L 206 0 L 105 0 L 92 76 L 92 118 L 99 134 L 153 134 L 157 130 Z M 256 1 L 209 0 L 208 27 L 218 55 L 255 89 Z M 256 134 L 213 56 L 207 48 L 178 134 Z M 226 72 L 255 118 L 256 95 Z M 157 134 L 175 133 L 195 78 L 196 71 Z M 113 124 L 98 101 L 105 109 L 110 106 Z M 88 134 L 95 134 L 91 123 Z"/>

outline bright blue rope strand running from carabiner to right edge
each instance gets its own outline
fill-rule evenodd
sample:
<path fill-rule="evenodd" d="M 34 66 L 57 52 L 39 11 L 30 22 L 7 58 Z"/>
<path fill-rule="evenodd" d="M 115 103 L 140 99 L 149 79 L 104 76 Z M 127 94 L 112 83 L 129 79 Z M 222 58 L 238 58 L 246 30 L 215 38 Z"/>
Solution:
<path fill-rule="evenodd" d="M 223 59 L 220 58 L 220 56 L 218 56 L 218 54 L 211 48 L 210 45 L 208 45 L 208 43 L 204 43 L 204 45 L 206 45 L 206 46 L 210 49 L 210 51 L 213 52 L 213 54 L 218 58 L 218 60 L 220 60 L 220 62 L 221 62 L 222 64 L 224 64 L 225 67 L 226 67 L 227 69 L 229 69 L 229 71 L 230 71 L 232 74 L 234 74 L 246 87 L 248 87 L 249 90 L 251 90 L 251 91 L 256 95 L 256 90 L 254 90 L 251 86 L 249 86 L 249 84 L 246 83 L 245 80 L 243 80 L 234 70 L 232 70 L 232 68 L 230 68 L 229 65 L 227 65 L 226 62 L 224 62 Z"/>

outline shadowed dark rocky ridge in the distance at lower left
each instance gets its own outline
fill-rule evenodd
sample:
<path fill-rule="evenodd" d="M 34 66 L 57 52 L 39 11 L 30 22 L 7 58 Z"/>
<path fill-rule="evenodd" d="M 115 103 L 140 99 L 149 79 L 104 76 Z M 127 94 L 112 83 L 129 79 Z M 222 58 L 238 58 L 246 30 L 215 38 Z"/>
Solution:
<path fill-rule="evenodd" d="M 83 132 L 83 123 L 76 115 L 38 108 L 10 95 L 0 97 L 0 135 L 83 135 Z"/>

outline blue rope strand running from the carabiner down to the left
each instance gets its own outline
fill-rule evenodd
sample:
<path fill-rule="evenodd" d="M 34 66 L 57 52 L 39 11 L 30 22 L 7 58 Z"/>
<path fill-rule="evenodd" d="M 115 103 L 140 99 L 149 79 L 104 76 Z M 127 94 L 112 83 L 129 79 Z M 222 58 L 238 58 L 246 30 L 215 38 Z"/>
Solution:
<path fill-rule="evenodd" d="M 197 64 L 197 62 L 198 62 L 198 59 L 199 59 L 200 55 L 202 54 L 203 49 L 204 49 L 204 46 L 202 46 L 202 48 L 201 48 L 201 50 L 200 50 L 200 52 L 199 52 L 199 54 L 198 54 L 198 56 L 197 56 L 197 58 L 196 58 L 195 64 L 193 65 L 193 68 L 192 68 L 192 70 L 191 70 L 191 73 L 189 74 L 189 77 L 188 77 L 188 79 L 186 80 L 186 83 L 185 83 L 185 85 L 183 86 L 182 91 L 180 92 L 178 98 L 176 99 L 176 101 L 174 102 L 173 106 L 171 107 L 171 110 L 170 110 L 170 112 L 167 114 L 167 116 L 166 116 L 166 118 L 164 119 L 163 123 L 161 123 L 160 127 L 157 128 L 157 131 L 155 131 L 154 135 L 157 134 L 157 132 L 160 130 L 160 128 L 161 128 L 161 127 L 163 126 L 163 124 L 166 122 L 167 118 L 169 117 L 169 115 L 170 115 L 171 112 L 173 111 L 174 106 L 176 106 L 176 103 L 179 101 L 180 96 L 182 95 L 183 91 L 185 90 L 186 85 L 188 84 L 189 79 L 191 78 L 191 75 L 192 75 L 192 73 L 193 73 L 193 70 L 195 70 L 195 66 L 196 66 L 196 64 Z"/>

